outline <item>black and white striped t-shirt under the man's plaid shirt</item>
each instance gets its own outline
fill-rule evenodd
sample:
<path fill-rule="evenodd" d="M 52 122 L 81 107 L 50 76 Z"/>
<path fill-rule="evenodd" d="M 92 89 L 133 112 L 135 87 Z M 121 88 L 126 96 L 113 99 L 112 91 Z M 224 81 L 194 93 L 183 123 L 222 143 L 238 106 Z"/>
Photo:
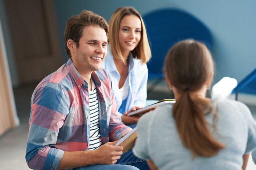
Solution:
<path fill-rule="evenodd" d="M 99 126 L 99 105 L 95 84 L 92 81 L 92 91 L 89 91 L 90 106 L 90 142 L 88 150 L 95 150 L 102 145 Z"/>

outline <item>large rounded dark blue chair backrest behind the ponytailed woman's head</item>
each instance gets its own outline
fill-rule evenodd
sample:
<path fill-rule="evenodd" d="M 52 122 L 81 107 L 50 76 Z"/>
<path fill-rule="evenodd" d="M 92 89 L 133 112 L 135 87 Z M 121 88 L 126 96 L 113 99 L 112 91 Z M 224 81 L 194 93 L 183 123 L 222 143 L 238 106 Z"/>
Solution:
<path fill-rule="evenodd" d="M 143 16 L 152 58 L 147 63 L 149 78 L 163 77 L 162 68 L 168 50 L 178 41 L 192 38 L 212 46 L 208 28 L 191 14 L 178 9 L 161 9 Z"/>

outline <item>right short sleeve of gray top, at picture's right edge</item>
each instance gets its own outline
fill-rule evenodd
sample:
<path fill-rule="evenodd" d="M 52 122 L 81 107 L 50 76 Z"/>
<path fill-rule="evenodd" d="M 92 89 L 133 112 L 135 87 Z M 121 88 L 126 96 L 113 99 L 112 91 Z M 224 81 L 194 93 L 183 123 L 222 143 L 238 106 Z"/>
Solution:
<path fill-rule="evenodd" d="M 238 102 L 239 110 L 243 114 L 245 122 L 248 127 L 248 138 L 247 138 L 247 146 L 245 150 L 245 154 L 248 154 L 256 149 L 256 122 L 252 117 L 251 111 L 249 108 L 241 103 Z"/>

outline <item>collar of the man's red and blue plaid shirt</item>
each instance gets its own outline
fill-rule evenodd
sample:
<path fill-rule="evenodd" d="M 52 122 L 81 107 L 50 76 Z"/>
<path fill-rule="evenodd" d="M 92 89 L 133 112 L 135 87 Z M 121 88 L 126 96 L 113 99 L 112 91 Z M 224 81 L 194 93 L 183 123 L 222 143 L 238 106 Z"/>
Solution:
<path fill-rule="evenodd" d="M 75 65 L 73 64 L 73 61 L 72 61 L 71 58 L 68 59 L 68 62 L 66 63 L 66 68 L 68 69 L 70 75 L 75 80 L 75 83 L 76 83 L 78 89 L 80 89 L 82 87 L 83 82 L 85 82 L 88 85 L 88 83 L 85 81 L 85 79 L 77 71 L 77 69 L 76 69 Z M 100 78 L 98 77 L 98 75 L 95 71 L 92 72 L 92 77 L 91 78 L 94 80 L 96 85 L 98 85 L 98 86 L 101 85 Z"/>

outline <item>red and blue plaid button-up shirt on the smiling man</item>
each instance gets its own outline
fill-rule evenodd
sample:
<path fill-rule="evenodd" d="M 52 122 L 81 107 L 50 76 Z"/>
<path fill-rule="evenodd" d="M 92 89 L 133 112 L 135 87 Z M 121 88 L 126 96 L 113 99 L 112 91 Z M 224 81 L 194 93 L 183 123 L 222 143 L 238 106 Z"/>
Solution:
<path fill-rule="evenodd" d="M 92 73 L 99 101 L 103 143 L 120 139 L 131 128 L 120 122 L 104 69 Z M 90 108 L 88 84 L 71 59 L 44 78 L 31 99 L 26 161 L 30 168 L 57 169 L 64 151 L 88 150 Z"/>

